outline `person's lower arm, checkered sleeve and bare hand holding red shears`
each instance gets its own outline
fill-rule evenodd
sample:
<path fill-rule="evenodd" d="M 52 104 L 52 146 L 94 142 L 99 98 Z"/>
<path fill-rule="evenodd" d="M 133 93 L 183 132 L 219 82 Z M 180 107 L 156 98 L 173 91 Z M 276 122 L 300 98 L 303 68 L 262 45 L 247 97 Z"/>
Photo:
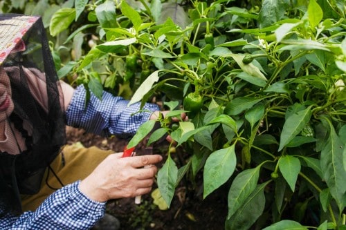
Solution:
<path fill-rule="evenodd" d="M 84 180 L 48 196 L 36 211 L 0 218 L 0 229 L 90 229 L 104 215 L 108 200 L 149 193 L 161 160 L 161 155 L 111 154 Z"/>

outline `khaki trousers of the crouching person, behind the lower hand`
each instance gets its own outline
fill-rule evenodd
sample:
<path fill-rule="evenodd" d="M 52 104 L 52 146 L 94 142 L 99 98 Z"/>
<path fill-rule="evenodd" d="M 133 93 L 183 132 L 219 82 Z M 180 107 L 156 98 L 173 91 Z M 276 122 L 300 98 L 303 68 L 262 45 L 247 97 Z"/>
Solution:
<path fill-rule="evenodd" d="M 104 151 L 97 147 L 84 148 L 78 145 L 64 146 L 62 153 L 57 155 L 51 164 L 52 171 L 44 175 L 41 189 L 35 195 L 21 195 L 23 211 L 35 211 L 37 207 L 51 195 L 56 189 L 60 189 L 62 184 L 71 184 L 77 180 L 83 180 L 95 169 L 104 158 L 113 151 Z M 48 177 L 47 177 L 48 176 Z"/>

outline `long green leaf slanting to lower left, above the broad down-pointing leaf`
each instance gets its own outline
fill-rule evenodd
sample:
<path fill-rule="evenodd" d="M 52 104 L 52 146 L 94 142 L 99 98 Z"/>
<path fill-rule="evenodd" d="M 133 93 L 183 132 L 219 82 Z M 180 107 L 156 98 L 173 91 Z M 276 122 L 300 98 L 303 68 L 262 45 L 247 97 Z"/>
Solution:
<path fill-rule="evenodd" d="M 303 111 L 298 111 L 293 115 L 290 115 L 282 128 L 280 135 L 280 146 L 277 151 L 281 151 L 286 144 L 289 144 L 291 140 L 302 131 L 302 128 L 310 121 L 311 108 L 306 108 Z"/>

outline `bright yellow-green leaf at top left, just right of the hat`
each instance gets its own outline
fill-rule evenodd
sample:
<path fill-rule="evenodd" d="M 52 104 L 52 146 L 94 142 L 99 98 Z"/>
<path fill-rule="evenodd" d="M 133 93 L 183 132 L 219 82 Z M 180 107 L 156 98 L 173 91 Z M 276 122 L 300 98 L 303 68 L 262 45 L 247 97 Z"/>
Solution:
<path fill-rule="evenodd" d="M 54 37 L 60 32 L 69 28 L 73 20 L 75 20 L 74 8 L 62 8 L 57 10 L 51 19 L 51 23 L 49 24 L 49 32 Z"/>

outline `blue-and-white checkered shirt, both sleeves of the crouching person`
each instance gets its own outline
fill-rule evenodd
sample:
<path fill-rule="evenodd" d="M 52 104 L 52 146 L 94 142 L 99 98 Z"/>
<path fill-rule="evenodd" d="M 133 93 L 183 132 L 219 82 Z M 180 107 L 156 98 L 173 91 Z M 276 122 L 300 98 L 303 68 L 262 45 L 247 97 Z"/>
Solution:
<path fill-rule="evenodd" d="M 122 135 L 129 137 L 149 119 L 151 112 L 158 111 L 155 104 L 145 104 L 143 111 L 136 113 L 140 104 L 127 107 L 128 101 L 104 92 L 102 100 L 91 93 L 85 109 L 86 90 L 76 88 L 66 110 L 66 124 L 98 135 Z M 134 115 L 132 115 L 135 113 Z M 27 211 L 19 217 L 7 214 L 0 219 L 0 229 L 90 229 L 104 215 L 105 202 L 95 202 L 78 189 L 80 181 L 55 191 L 36 211 Z"/>

